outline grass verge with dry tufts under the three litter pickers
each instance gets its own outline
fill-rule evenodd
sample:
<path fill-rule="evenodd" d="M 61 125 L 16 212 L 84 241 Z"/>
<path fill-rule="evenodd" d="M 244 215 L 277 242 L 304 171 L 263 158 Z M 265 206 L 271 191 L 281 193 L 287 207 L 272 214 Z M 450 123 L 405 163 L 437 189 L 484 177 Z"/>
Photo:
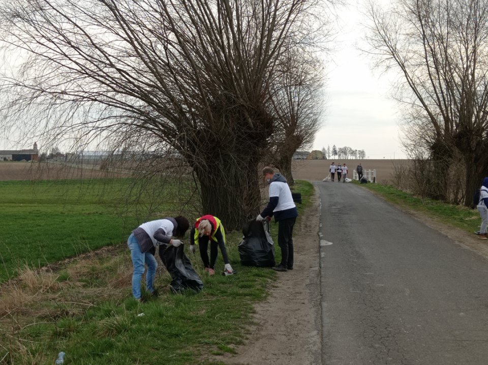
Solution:
<path fill-rule="evenodd" d="M 297 181 L 294 191 L 302 194 L 301 215 L 314 188 Z M 82 210 L 76 207 L 79 202 L 73 200 L 70 208 Z M 43 204 L 49 211 L 47 201 Z M 91 202 L 86 209 L 95 207 Z M 76 219 L 89 216 L 78 214 Z M 59 226 L 49 219 L 45 225 Z M 45 236 L 54 231 L 53 226 L 46 227 Z M 276 238 L 278 225 L 270 226 Z M 92 230 L 96 236 L 107 226 L 95 225 Z M 63 261 L 56 261 L 55 255 L 47 259 L 51 256 L 46 253 L 49 265 L 41 269 L 31 263 L 15 268 L 16 278 L 4 283 L 0 294 L 0 363 L 53 363 L 57 353 L 64 351 L 65 364 L 219 364 L 208 360 L 209 356 L 233 353 L 246 342 L 253 305 L 266 297 L 276 273 L 239 264 L 240 232 L 227 235 L 236 275 L 209 277 L 199 257 L 188 254 L 205 288 L 200 293 L 171 294 L 171 278 L 158 258 L 160 295 L 149 298 L 145 293 L 145 303 L 131 297 L 132 263 L 126 235 L 112 232 L 111 237 L 121 243 Z M 56 250 L 56 246 L 46 245 L 46 250 Z M 280 257 L 278 247 L 276 255 Z M 220 255 L 216 267 L 223 269 Z"/>

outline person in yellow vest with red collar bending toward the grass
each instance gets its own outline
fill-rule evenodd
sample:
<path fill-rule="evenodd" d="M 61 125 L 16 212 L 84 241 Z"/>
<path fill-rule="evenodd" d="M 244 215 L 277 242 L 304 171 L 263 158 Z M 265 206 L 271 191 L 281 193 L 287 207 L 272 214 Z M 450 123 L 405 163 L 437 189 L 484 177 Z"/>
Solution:
<path fill-rule="evenodd" d="M 210 242 L 210 260 L 208 260 L 207 254 L 208 242 Z M 215 262 L 219 254 L 219 248 L 224 258 L 224 270 L 227 273 L 233 272 L 227 256 L 227 250 L 225 249 L 224 226 L 219 218 L 205 215 L 196 220 L 195 226 L 190 231 L 190 251 L 192 253 L 196 251 L 195 244 L 198 245 L 203 266 L 205 266 L 205 270 L 208 271 L 209 275 L 215 274 Z"/>

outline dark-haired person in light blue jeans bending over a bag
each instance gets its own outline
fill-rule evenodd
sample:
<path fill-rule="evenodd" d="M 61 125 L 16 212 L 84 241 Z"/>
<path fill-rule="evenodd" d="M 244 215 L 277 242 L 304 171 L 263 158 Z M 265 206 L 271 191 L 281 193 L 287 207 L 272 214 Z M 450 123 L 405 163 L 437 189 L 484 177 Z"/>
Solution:
<path fill-rule="evenodd" d="M 154 257 L 156 246 L 161 244 L 178 247 L 183 242 L 174 237 L 184 237 L 190 227 L 188 219 L 182 216 L 164 218 L 141 224 L 134 229 L 127 239 L 127 245 L 131 250 L 132 265 L 132 295 L 139 301 L 141 297 L 141 278 L 144 273 L 144 264 L 147 265 L 146 289 L 151 295 L 155 295 L 154 279 L 158 262 Z"/>

